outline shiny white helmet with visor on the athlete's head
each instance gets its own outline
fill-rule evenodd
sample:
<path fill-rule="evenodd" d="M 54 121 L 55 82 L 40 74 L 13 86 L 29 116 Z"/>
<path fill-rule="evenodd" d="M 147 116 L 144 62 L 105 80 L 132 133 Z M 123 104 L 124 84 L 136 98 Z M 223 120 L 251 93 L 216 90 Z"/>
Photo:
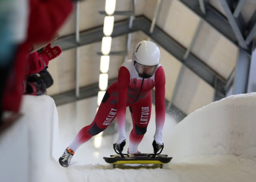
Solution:
<path fill-rule="evenodd" d="M 139 77 L 150 78 L 160 63 L 160 50 L 151 41 L 140 41 L 135 46 L 132 61 Z"/>

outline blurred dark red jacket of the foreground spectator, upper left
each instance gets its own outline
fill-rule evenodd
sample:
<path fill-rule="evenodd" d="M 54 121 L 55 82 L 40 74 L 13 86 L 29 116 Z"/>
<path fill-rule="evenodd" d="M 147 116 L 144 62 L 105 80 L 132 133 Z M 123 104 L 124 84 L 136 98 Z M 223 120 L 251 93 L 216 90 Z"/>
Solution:
<path fill-rule="evenodd" d="M 29 0 L 27 39 L 18 46 L 15 63 L 5 89 L 3 109 L 18 112 L 24 92 L 27 56 L 33 44 L 50 41 L 71 13 L 71 0 Z"/>

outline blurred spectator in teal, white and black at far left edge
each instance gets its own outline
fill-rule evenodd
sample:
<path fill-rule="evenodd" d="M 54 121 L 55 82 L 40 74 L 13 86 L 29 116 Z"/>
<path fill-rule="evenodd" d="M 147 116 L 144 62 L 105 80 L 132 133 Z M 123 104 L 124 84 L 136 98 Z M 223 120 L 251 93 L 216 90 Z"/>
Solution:
<path fill-rule="evenodd" d="M 28 0 L 0 0 L 0 121 L 3 92 L 17 46 L 26 39 Z"/>

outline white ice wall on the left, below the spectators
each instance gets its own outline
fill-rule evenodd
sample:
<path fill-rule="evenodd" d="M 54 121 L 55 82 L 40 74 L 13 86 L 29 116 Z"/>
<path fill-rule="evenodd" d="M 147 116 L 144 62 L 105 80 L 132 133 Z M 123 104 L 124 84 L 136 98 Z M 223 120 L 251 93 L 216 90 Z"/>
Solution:
<path fill-rule="evenodd" d="M 1 180 L 42 182 L 50 163 L 52 123 L 58 120 L 54 100 L 47 96 L 23 97 L 22 118 L 0 138 Z"/>

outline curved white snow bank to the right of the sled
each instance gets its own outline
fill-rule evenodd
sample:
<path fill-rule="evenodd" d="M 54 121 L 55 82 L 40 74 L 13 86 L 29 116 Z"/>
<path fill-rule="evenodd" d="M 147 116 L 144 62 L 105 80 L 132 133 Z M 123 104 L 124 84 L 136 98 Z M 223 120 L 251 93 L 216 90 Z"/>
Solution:
<path fill-rule="evenodd" d="M 176 125 L 168 151 L 174 162 L 192 156 L 256 159 L 256 93 L 231 95 L 198 109 Z M 189 161 L 186 161 L 189 162 Z"/>

